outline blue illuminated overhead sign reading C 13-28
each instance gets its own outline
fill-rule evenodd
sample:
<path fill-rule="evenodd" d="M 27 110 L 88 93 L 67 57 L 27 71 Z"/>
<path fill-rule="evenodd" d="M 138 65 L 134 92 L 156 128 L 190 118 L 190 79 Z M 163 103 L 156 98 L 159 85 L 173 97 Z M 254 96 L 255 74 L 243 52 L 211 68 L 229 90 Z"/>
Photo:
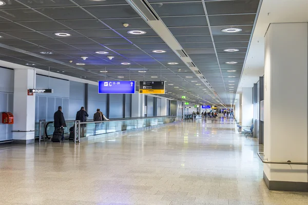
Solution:
<path fill-rule="evenodd" d="M 135 81 L 99 81 L 100 94 L 133 94 Z"/>

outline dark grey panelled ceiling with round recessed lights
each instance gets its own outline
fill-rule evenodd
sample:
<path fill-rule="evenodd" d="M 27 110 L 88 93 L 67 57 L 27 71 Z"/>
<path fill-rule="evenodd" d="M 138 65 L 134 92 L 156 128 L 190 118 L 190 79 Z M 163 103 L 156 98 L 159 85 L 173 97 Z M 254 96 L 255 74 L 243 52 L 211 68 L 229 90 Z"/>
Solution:
<path fill-rule="evenodd" d="M 229 93 L 238 87 L 260 0 L 143 1 L 157 17 L 154 20 L 147 20 L 138 13 L 138 6 L 132 6 L 131 2 L 138 1 L 142 2 L 1 0 L 0 5 L 5 4 L 0 6 L 0 60 L 91 81 L 164 80 L 166 94 L 162 96 L 232 104 L 235 96 Z M 226 28 L 241 31 L 221 31 Z M 146 33 L 129 34 L 132 30 Z M 70 36 L 54 35 L 60 32 Z M 179 56 L 175 48 L 185 56 Z M 226 64 L 230 61 L 237 64 Z"/>

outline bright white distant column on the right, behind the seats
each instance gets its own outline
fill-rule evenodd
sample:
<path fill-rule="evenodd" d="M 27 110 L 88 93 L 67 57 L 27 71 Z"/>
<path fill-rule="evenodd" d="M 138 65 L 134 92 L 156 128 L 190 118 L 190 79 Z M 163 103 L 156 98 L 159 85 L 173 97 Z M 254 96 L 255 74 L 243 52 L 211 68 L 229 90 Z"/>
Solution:
<path fill-rule="evenodd" d="M 242 127 L 251 127 L 254 117 L 253 88 L 242 88 L 241 105 Z"/>

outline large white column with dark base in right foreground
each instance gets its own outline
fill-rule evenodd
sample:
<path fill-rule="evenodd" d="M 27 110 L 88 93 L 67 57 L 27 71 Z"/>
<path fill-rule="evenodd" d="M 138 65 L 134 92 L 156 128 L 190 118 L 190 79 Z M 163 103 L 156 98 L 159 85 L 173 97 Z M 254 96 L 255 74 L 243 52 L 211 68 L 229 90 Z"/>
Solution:
<path fill-rule="evenodd" d="M 307 23 L 269 26 L 264 70 L 264 155 L 268 161 L 308 161 L 307 56 Z M 294 107 L 300 112 L 294 112 Z M 264 180 L 271 190 L 308 191 L 307 166 L 264 164 Z"/>

